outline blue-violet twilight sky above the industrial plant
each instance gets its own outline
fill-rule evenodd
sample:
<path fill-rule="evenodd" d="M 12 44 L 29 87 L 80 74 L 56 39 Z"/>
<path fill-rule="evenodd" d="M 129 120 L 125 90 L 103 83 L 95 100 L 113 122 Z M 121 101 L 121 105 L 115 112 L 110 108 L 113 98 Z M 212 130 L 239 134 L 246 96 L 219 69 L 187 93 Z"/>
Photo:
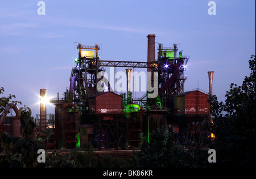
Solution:
<path fill-rule="evenodd" d="M 216 15 L 208 14 L 209 0 L 45 0 L 45 15 L 38 15 L 38 2 L 0 1 L 0 87 L 32 116 L 40 111 L 40 89 L 56 98 L 69 87 L 75 42 L 101 44 L 101 60 L 120 61 L 147 61 L 148 34 L 164 47 L 179 43 L 190 56 L 185 90 L 208 91 L 207 72 L 214 71 L 218 101 L 225 101 L 232 82 L 241 85 L 250 74 L 255 1 L 216 0 Z"/>

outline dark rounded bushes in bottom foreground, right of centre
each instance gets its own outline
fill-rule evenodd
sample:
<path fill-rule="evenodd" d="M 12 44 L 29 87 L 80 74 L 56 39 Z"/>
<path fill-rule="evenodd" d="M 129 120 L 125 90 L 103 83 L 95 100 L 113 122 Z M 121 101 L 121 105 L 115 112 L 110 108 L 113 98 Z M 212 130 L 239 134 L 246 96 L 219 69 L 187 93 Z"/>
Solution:
<path fill-rule="evenodd" d="M 199 148 L 176 144 L 176 134 L 172 128 L 166 132 L 158 128 L 147 138 L 143 137 L 141 152 L 134 152 L 132 164 L 134 167 L 205 167 L 207 152 Z"/>

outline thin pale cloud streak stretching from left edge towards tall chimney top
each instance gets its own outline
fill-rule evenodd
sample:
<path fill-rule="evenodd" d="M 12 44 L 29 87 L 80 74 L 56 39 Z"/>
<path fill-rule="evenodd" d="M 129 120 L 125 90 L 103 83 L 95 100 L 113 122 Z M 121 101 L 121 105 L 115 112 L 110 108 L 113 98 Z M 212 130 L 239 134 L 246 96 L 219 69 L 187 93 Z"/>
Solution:
<path fill-rule="evenodd" d="M 79 27 L 79 28 L 93 28 L 99 30 L 112 30 L 112 31 L 123 31 L 139 34 L 148 34 L 154 32 L 156 34 L 163 34 L 159 30 L 152 30 L 148 28 L 138 27 L 138 26 L 121 26 L 117 24 L 106 24 L 106 22 L 100 22 L 90 19 L 77 19 L 77 18 L 67 18 L 65 16 L 54 16 L 54 15 L 44 15 L 40 16 L 35 14 L 34 11 L 28 9 L 24 5 L 22 9 L 3 9 L 0 7 L 0 19 L 6 20 L 6 24 L 1 23 L 0 34 L 1 35 L 24 35 L 31 32 L 32 28 L 37 28 L 37 31 L 32 32 L 34 38 L 60 38 L 67 35 L 68 32 L 61 31 L 62 33 L 57 33 L 53 30 L 46 30 L 45 27 Z M 18 23 L 8 23 L 8 22 L 18 22 Z M 42 28 L 42 30 L 41 30 Z M 70 33 L 68 33 L 70 34 Z"/>

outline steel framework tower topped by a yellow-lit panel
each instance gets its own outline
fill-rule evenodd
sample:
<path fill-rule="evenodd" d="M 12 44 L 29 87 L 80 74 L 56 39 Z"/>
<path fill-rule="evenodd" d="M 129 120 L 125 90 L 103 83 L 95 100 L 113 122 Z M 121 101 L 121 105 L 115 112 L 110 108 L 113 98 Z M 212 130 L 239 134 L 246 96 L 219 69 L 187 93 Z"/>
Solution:
<path fill-rule="evenodd" d="M 79 49 L 79 58 L 75 59 L 76 67 L 72 68 L 71 72 L 69 102 L 74 102 L 79 106 L 79 109 L 85 110 L 88 106 L 89 97 L 99 93 L 97 90 L 97 82 L 99 81 L 97 74 L 103 68 L 100 68 L 98 56 L 100 47 L 97 44 L 88 46 L 79 43 L 77 49 Z M 88 49 L 89 51 L 82 51 L 82 49 Z"/>

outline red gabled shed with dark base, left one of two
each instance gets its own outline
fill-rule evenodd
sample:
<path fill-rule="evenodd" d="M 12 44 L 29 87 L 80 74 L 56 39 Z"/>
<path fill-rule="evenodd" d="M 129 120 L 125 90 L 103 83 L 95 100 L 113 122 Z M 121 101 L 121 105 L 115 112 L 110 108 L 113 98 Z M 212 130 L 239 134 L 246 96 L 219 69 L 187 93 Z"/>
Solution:
<path fill-rule="evenodd" d="M 94 147 L 114 148 L 125 145 L 122 96 L 107 91 L 89 98 L 89 116 L 93 124 Z M 88 136 L 89 141 L 89 136 Z"/>

